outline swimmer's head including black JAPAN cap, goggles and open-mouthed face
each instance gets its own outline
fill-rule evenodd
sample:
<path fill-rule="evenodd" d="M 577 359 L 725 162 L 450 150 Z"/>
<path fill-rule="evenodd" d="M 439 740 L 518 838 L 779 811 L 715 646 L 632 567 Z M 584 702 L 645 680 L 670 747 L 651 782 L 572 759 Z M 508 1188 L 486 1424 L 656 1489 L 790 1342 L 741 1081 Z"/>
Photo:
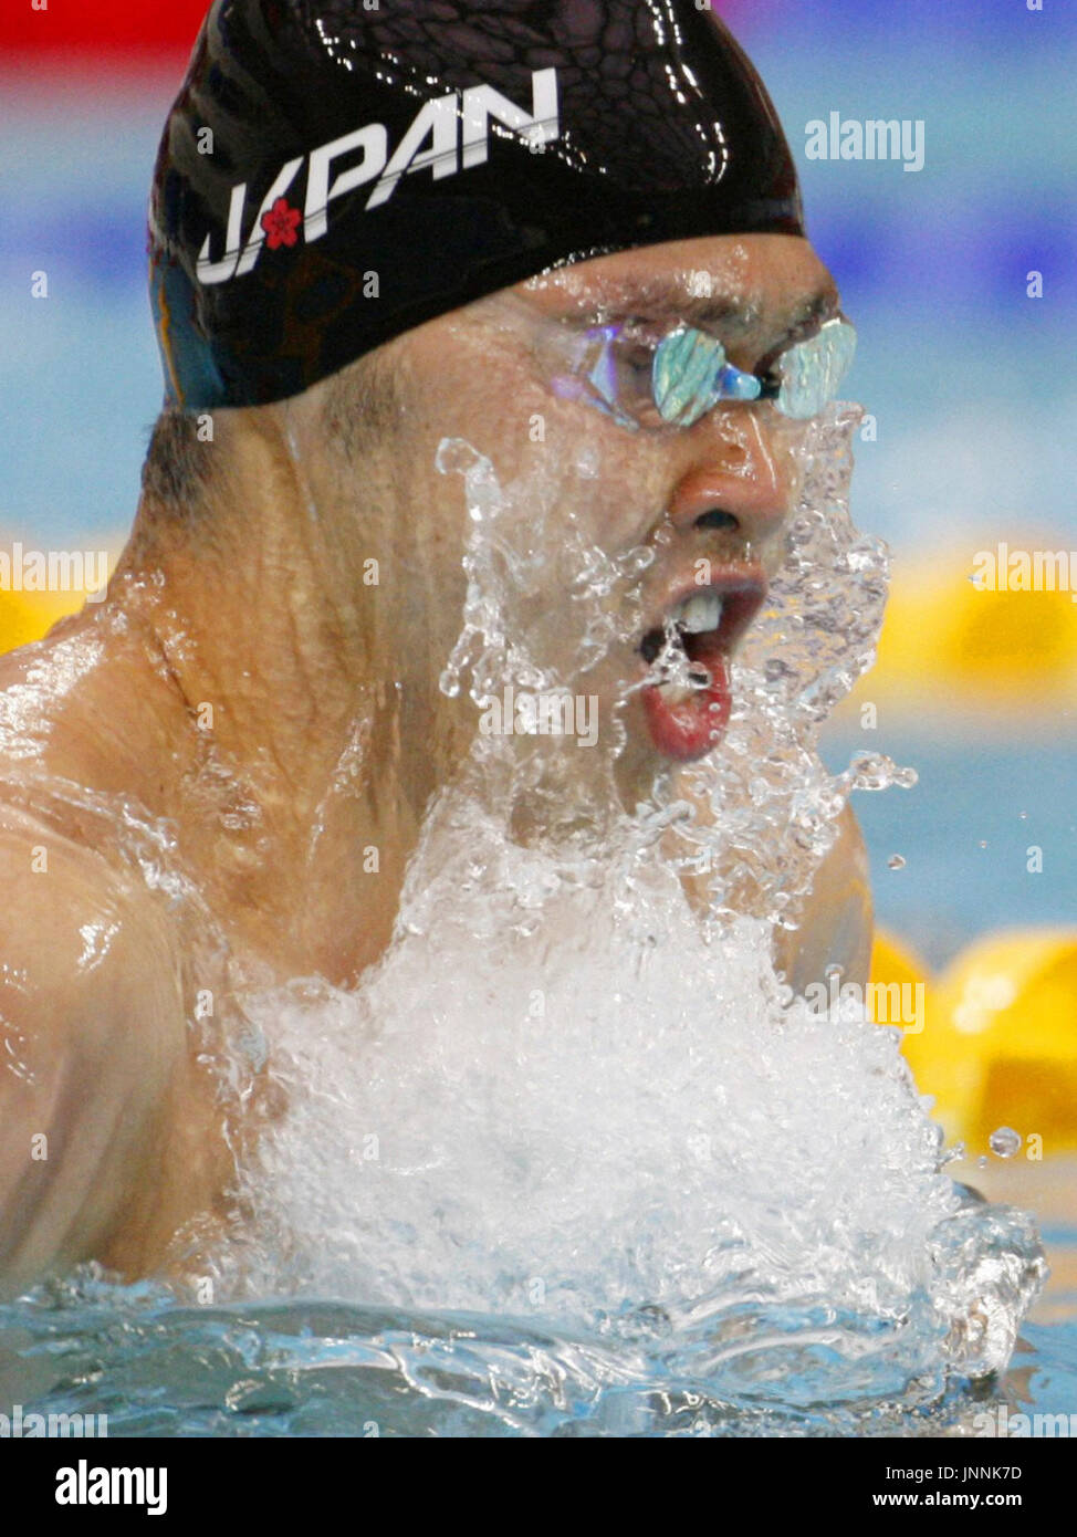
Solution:
<path fill-rule="evenodd" d="M 167 409 L 131 559 L 167 566 L 221 669 L 246 626 L 290 701 L 275 721 L 309 705 L 289 669 L 320 679 L 326 741 L 333 698 L 349 722 L 367 701 L 370 772 L 415 825 L 482 747 L 496 678 L 587 699 L 596 752 L 533 744 L 561 807 L 542 825 L 575 825 L 585 778 L 630 808 L 721 741 L 851 335 L 773 106 L 708 9 L 218 0 L 151 257 Z M 487 587 L 453 444 L 501 487 Z M 476 595 L 481 666 L 446 687 Z"/>

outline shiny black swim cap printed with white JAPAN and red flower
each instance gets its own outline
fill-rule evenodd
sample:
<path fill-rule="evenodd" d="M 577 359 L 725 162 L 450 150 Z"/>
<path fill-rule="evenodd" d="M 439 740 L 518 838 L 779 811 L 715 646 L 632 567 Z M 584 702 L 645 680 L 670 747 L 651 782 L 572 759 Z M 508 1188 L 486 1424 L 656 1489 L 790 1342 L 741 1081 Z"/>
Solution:
<path fill-rule="evenodd" d="M 157 157 L 166 401 L 297 395 L 552 266 L 804 234 L 759 75 L 696 0 L 217 0 Z"/>

